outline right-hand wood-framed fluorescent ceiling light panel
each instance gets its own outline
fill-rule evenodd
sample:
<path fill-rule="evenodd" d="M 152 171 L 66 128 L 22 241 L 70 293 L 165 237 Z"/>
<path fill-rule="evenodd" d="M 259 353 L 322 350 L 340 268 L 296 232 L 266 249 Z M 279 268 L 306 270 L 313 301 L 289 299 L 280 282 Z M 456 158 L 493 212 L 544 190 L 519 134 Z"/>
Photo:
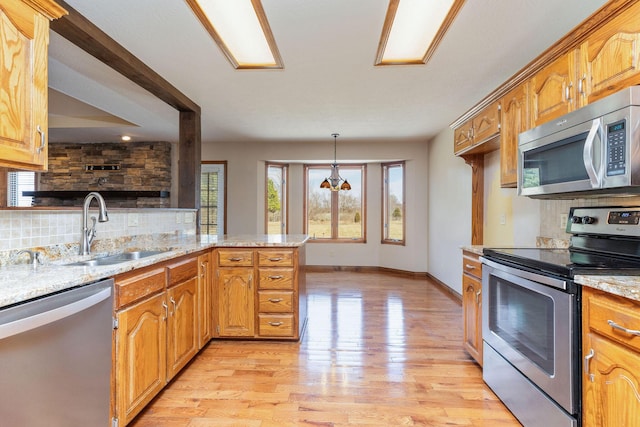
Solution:
<path fill-rule="evenodd" d="M 376 65 L 424 64 L 464 0 L 390 0 Z"/>

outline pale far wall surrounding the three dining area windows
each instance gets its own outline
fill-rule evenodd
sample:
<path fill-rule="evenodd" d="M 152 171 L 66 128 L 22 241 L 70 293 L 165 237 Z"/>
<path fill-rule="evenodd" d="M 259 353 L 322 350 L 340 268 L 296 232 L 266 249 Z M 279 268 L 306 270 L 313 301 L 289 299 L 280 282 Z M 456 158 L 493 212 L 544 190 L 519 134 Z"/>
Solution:
<path fill-rule="evenodd" d="M 338 163 L 367 161 L 367 243 L 307 245 L 307 264 L 427 271 L 428 144 L 338 139 Z M 450 153 L 451 154 L 451 153 Z M 289 233 L 302 233 L 304 162 L 333 161 L 333 140 L 317 143 L 203 143 L 202 160 L 227 161 L 227 234 L 264 233 L 265 161 L 290 164 Z M 381 161 L 406 161 L 406 246 L 382 245 Z"/>

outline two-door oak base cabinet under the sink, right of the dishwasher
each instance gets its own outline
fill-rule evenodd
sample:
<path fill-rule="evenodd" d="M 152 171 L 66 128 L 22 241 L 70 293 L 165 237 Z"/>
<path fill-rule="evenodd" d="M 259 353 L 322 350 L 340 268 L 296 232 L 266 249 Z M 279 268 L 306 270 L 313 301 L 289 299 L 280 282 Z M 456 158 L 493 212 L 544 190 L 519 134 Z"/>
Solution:
<path fill-rule="evenodd" d="M 204 292 L 199 259 L 187 256 L 115 277 L 111 406 L 118 426 L 128 424 L 198 352 Z"/>

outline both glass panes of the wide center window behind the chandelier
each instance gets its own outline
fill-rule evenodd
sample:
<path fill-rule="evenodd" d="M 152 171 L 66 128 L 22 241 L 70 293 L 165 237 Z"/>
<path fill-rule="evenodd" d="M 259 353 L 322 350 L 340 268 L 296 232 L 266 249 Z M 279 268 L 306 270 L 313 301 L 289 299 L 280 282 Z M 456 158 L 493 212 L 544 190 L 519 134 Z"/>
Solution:
<path fill-rule="evenodd" d="M 365 242 L 365 165 L 340 165 L 351 190 L 331 191 L 320 183 L 330 165 L 305 165 L 305 233 L 323 241 Z"/>

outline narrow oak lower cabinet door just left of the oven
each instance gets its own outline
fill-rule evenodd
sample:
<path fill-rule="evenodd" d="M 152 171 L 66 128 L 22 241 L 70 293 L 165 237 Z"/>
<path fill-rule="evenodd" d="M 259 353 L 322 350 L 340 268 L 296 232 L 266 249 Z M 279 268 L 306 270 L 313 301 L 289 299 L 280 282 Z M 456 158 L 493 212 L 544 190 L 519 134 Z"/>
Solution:
<path fill-rule="evenodd" d="M 463 275 L 462 288 L 464 347 L 482 366 L 482 285 L 477 279 Z"/>

